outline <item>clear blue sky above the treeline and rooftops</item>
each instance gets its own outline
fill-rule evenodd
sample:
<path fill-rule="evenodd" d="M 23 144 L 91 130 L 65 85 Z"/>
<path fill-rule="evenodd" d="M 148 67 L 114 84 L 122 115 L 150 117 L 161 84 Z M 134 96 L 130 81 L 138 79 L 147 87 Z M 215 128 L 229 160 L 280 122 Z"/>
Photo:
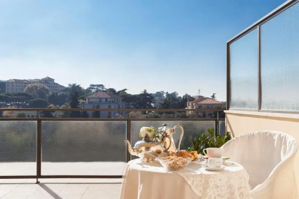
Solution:
<path fill-rule="evenodd" d="M 226 101 L 226 41 L 283 2 L 0 1 L 0 79 Z"/>

